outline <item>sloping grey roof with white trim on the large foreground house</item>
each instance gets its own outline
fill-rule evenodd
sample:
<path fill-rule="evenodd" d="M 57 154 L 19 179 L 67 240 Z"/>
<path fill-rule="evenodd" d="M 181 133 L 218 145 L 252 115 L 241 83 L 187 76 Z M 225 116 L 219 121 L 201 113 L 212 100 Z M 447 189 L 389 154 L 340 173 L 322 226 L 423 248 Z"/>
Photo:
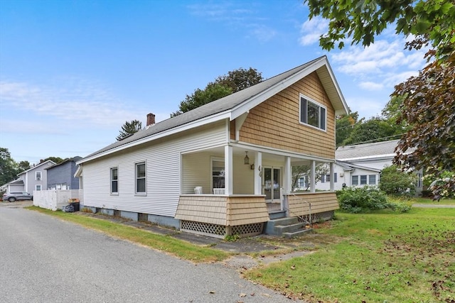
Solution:
<path fill-rule="evenodd" d="M 311 74 L 311 72 L 317 72 L 336 114 L 348 113 L 348 106 L 343 94 L 341 94 L 341 89 L 338 87 L 333 71 L 328 64 L 327 57 L 322 56 L 304 65 L 295 67 L 292 70 L 264 80 L 252 87 L 242 89 L 239 92 L 200 106 L 197 109 L 156 123 L 149 128 L 134 133 L 133 136 L 124 138 L 122 141 L 117 141 L 101 150 L 97 150 L 95 153 L 87 155 L 87 157 L 77 162 L 77 164 L 99 158 L 102 155 L 114 153 L 117 150 L 151 141 L 155 138 L 161 138 L 171 133 L 200 126 L 203 123 L 222 119 L 230 119 L 232 121 L 274 94 L 303 79 Z"/>

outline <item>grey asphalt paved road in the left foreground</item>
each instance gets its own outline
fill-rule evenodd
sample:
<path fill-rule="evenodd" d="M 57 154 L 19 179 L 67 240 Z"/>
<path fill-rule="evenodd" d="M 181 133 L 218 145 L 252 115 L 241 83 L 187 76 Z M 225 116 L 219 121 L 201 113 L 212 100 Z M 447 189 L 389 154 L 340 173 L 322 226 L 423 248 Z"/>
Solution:
<path fill-rule="evenodd" d="M 0 202 L 2 303 L 289 301 L 223 264 L 194 265 Z"/>

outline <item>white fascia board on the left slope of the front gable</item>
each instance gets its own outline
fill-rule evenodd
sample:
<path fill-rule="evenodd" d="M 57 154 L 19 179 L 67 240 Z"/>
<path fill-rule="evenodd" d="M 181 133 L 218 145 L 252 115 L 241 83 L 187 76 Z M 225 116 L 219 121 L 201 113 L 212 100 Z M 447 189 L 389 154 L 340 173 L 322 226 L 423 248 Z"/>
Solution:
<path fill-rule="evenodd" d="M 231 119 L 233 120 L 233 119 L 237 118 L 238 116 L 246 113 L 247 111 L 250 111 L 250 109 L 256 107 L 257 105 L 261 104 L 263 101 L 269 99 L 270 97 L 274 96 L 275 94 L 278 94 L 283 89 L 286 89 L 287 87 L 291 86 L 292 84 L 299 81 L 300 79 L 303 79 L 304 77 L 311 74 L 311 72 L 318 70 L 320 67 L 322 67 L 326 64 L 327 64 L 326 58 L 321 58 L 321 60 L 313 62 L 308 67 L 304 68 L 304 70 L 296 72 L 294 75 L 291 75 L 289 78 L 283 79 L 281 82 L 278 82 L 277 84 L 274 84 L 272 87 L 269 87 L 268 89 L 265 89 L 264 91 L 251 97 L 250 99 L 247 99 L 246 101 L 242 102 L 242 104 L 240 104 L 240 105 L 236 106 L 234 109 L 232 109 Z"/>

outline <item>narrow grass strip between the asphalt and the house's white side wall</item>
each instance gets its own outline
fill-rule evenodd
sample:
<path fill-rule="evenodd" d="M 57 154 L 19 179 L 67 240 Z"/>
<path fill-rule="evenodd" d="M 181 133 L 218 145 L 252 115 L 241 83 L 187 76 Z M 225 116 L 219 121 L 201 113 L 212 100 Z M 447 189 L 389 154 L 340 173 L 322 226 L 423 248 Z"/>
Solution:
<path fill-rule="evenodd" d="M 230 257 L 229 253 L 225 253 L 222 250 L 197 246 L 170 236 L 150 233 L 149 231 L 143 231 L 139 228 L 124 226 L 107 220 L 87 216 L 77 216 L 63 211 L 51 211 L 48 209 L 41 209 L 36 206 L 29 206 L 27 209 L 40 211 L 43 214 L 55 216 L 65 221 L 70 221 L 87 228 L 102 231 L 109 236 L 139 243 L 143 246 L 160 250 L 171 255 L 175 255 L 178 258 L 190 260 L 195 263 L 217 262 Z"/>

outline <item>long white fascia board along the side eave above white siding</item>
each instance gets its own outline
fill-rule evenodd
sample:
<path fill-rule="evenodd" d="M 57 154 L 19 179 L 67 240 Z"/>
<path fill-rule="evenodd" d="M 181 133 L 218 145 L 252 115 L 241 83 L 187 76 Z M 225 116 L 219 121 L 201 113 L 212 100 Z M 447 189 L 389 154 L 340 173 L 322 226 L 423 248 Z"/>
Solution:
<path fill-rule="evenodd" d="M 164 138 L 166 136 L 171 136 L 171 135 L 173 135 L 175 133 L 181 133 L 182 131 L 188 131 L 191 128 L 196 128 L 198 126 L 203 126 L 205 124 L 213 123 L 213 122 L 220 121 L 220 120 L 223 120 L 223 119 L 230 119 L 230 116 L 231 116 L 230 115 L 230 111 L 223 111 L 221 113 L 214 114 L 212 116 L 208 116 L 208 117 L 196 120 L 196 121 L 192 121 L 190 123 L 183 124 L 181 126 L 177 126 L 175 128 L 170 128 L 170 129 L 168 129 L 166 131 L 161 131 L 160 133 L 156 133 L 156 134 L 151 135 L 151 136 L 140 138 L 137 141 L 132 141 L 130 143 L 117 146 L 116 148 L 112 148 L 110 150 L 105 150 L 102 153 L 98 153 L 96 155 L 92 155 L 92 157 L 90 157 L 90 158 L 84 158 L 84 159 L 82 159 L 80 161 L 77 161 L 76 164 L 80 165 L 80 164 L 82 164 L 84 162 L 88 162 L 88 161 L 95 160 L 97 158 L 104 157 L 105 155 L 110 155 L 112 153 L 117 153 L 119 150 L 132 148 L 133 146 L 141 145 L 143 143 L 154 141 L 154 140 L 159 139 L 159 138 Z"/>

